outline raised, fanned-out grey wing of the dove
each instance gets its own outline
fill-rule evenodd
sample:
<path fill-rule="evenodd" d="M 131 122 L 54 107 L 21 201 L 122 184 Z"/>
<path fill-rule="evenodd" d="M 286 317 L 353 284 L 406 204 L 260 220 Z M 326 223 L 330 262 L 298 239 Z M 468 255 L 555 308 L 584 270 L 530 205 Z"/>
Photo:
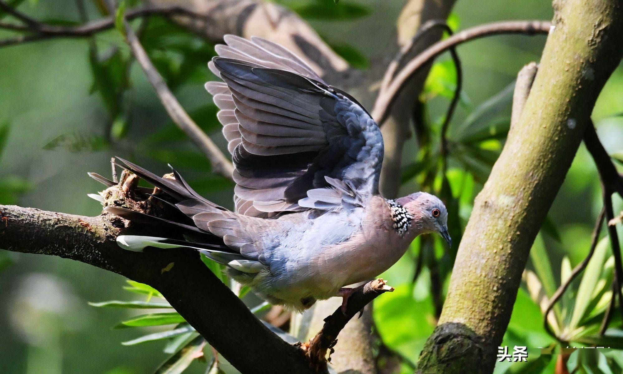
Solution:
<path fill-rule="evenodd" d="M 378 192 L 383 138 L 369 113 L 288 50 L 226 36 L 206 89 L 234 160 L 236 210 L 274 216 Z"/>

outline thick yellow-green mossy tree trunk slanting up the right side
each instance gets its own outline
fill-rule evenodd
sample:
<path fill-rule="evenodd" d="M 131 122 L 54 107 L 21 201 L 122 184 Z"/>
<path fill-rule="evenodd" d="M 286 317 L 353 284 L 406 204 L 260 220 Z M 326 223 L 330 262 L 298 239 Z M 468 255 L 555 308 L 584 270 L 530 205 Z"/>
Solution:
<path fill-rule="evenodd" d="M 618 0 L 566 0 L 530 95 L 478 194 L 417 373 L 491 373 L 530 247 L 621 61 Z"/>

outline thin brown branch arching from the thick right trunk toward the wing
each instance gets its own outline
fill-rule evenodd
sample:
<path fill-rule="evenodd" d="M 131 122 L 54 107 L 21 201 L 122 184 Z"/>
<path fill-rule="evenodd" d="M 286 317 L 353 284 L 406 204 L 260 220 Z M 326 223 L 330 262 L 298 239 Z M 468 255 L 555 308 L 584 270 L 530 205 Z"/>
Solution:
<path fill-rule="evenodd" d="M 432 59 L 442 54 L 451 47 L 458 46 L 463 42 L 467 42 L 480 37 L 499 35 L 499 34 L 547 34 L 551 27 L 548 21 L 503 21 L 484 24 L 472 27 L 448 39 L 435 43 L 421 54 L 417 55 L 409 61 L 408 64 L 396 75 L 392 83 L 385 92 L 379 93 L 379 97 L 374 103 L 372 117 L 377 123 L 383 123 L 389 115 L 389 110 L 396 100 L 397 95 L 404 88 L 407 81 L 418 72 L 424 65 Z"/>

